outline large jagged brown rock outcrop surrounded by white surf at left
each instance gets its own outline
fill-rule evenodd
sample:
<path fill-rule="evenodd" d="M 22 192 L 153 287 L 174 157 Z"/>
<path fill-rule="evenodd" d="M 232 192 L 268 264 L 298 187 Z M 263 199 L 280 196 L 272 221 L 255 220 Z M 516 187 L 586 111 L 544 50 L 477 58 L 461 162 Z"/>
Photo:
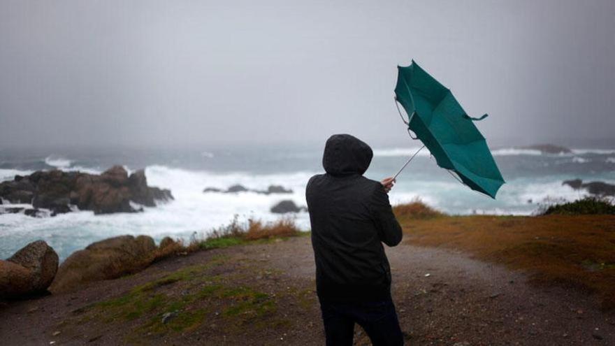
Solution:
<path fill-rule="evenodd" d="M 31 175 L 15 175 L 12 181 L 0 183 L 0 204 L 8 201 L 33 207 L 1 208 L 3 212 L 24 212 L 35 217 L 44 215 L 45 209 L 55 216 L 71 212 L 75 207 L 92 210 L 95 215 L 138 212 L 143 210 L 141 206 L 153 207 L 157 201 L 172 199 L 168 189 L 147 185 L 143 169 L 128 175 L 122 166 L 113 166 L 100 175 L 78 171 L 36 171 Z"/>

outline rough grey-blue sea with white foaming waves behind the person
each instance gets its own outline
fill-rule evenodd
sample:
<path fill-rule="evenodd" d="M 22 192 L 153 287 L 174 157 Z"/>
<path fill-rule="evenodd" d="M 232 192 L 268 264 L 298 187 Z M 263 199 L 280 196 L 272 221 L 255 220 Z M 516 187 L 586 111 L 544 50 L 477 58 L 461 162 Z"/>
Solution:
<path fill-rule="evenodd" d="M 418 147 L 375 147 L 368 178 L 393 175 Z M 233 215 L 275 220 L 269 211 L 275 203 L 291 199 L 305 206 L 305 184 L 321 173 L 322 147 L 247 146 L 203 147 L 194 150 L 0 150 L 0 181 L 37 170 L 101 173 L 114 164 L 129 173 L 145 168 L 150 186 L 171 189 L 175 201 L 144 212 L 96 215 L 76 211 L 56 217 L 0 215 L 0 258 L 36 239 L 47 241 L 61 260 L 90 243 L 122 234 L 147 234 L 188 240 L 206 236 L 214 227 L 228 224 Z M 389 194 L 391 203 L 420 198 L 451 214 L 489 213 L 531 215 L 549 200 L 572 201 L 586 192 L 563 186 L 563 180 L 581 178 L 615 183 L 615 147 L 572 147 L 570 154 L 542 154 L 537 150 L 495 147 L 495 161 L 507 183 L 497 200 L 470 190 L 447 171 L 438 168 L 424 149 L 399 176 Z M 205 187 L 226 189 L 240 184 L 249 189 L 282 185 L 292 194 L 203 193 Z M 3 206 L 6 207 L 6 201 Z M 307 212 L 296 214 L 303 229 L 310 228 Z"/>

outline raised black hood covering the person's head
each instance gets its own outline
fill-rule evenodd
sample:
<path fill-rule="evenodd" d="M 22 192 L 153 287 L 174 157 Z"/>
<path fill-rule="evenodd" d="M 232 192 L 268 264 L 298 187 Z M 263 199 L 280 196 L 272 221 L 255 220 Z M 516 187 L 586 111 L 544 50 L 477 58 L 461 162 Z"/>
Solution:
<path fill-rule="evenodd" d="M 324 147 L 322 166 L 331 175 L 363 174 L 374 153 L 367 143 L 349 134 L 334 134 Z"/>

